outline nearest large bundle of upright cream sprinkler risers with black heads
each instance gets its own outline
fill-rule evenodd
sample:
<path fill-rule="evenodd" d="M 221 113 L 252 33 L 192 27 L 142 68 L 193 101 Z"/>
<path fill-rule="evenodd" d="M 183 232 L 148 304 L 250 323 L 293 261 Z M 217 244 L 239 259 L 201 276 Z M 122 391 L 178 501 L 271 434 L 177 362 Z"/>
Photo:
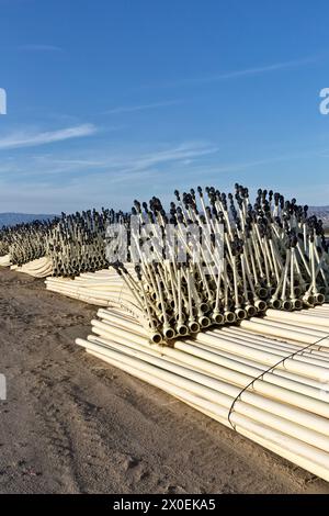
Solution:
<path fill-rule="evenodd" d="M 307 210 L 271 190 L 259 190 L 251 204 L 239 184 L 228 195 L 213 187 L 175 191 L 169 212 L 157 198 L 135 201 L 139 225 L 127 224 L 127 239 L 137 280 L 115 256 L 109 261 L 144 311 L 150 336 L 163 340 L 269 307 L 313 307 L 328 300 L 329 261 L 321 222 Z M 117 235 L 109 240 L 120 248 Z"/>

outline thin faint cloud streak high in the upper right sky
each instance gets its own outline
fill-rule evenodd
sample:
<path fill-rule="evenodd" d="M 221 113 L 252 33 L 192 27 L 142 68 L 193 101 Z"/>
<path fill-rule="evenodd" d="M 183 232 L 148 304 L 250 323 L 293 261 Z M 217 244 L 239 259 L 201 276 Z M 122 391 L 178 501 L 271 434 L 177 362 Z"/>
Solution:
<path fill-rule="evenodd" d="M 204 76 L 204 77 L 194 77 L 190 79 L 182 79 L 178 81 L 166 82 L 161 86 L 167 88 L 167 87 L 175 87 L 175 86 L 184 86 L 184 85 L 202 85 L 202 83 L 207 83 L 207 82 L 217 82 L 222 80 L 237 79 L 239 77 L 258 76 L 262 74 L 270 74 L 273 71 L 288 70 L 293 68 L 303 67 L 303 66 L 316 63 L 318 59 L 319 59 L 318 56 L 314 56 L 314 57 L 306 57 L 304 59 L 293 59 L 293 60 L 281 61 L 281 63 L 272 63 L 270 65 L 242 68 L 240 70 L 225 71 L 225 72 L 214 74 L 214 75 Z"/>

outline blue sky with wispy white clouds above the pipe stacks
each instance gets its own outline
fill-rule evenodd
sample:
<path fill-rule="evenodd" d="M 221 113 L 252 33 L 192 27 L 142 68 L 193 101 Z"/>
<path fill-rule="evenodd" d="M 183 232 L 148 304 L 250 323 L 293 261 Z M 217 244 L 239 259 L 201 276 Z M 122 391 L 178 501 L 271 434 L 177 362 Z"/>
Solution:
<path fill-rule="evenodd" d="M 0 0 L 0 212 L 238 181 L 329 204 L 329 4 Z"/>

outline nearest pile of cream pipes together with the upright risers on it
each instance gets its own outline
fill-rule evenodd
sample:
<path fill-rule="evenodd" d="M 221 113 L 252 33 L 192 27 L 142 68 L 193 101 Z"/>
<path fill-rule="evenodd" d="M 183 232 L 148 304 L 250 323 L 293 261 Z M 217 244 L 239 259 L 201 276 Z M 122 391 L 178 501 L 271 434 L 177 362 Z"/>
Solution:
<path fill-rule="evenodd" d="M 175 192 L 169 211 L 135 201 L 132 217 L 105 224 L 110 269 L 93 260 L 73 280 L 77 265 L 46 280 L 102 306 L 77 344 L 329 481 L 321 222 L 272 191 L 251 203 L 239 184 Z"/>

